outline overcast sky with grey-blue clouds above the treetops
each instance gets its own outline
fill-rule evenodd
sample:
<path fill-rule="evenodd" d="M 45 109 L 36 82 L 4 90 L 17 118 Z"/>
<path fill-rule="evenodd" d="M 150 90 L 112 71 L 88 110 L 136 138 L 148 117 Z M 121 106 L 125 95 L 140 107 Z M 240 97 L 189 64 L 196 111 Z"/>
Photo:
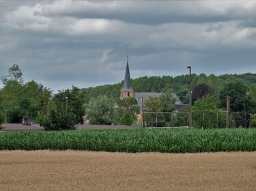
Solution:
<path fill-rule="evenodd" d="M 127 54 L 131 78 L 255 73 L 256 1 L 0 1 L 0 76 L 121 83 Z"/>

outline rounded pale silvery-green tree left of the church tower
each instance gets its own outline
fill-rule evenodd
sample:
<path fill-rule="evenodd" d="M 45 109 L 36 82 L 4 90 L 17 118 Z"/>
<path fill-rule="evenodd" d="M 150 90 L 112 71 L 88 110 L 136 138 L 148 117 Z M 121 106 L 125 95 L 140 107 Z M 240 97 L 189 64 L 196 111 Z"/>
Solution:
<path fill-rule="evenodd" d="M 104 95 L 92 98 L 86 113 L 90 124 L 109 125 L 116 121 L 114 100 Z"/>

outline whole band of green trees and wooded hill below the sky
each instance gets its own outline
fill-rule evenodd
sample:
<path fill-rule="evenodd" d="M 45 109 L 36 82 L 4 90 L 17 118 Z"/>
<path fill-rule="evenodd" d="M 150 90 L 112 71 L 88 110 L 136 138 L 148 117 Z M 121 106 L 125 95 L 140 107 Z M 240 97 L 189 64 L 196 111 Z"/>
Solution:
<path fill-rule="evenodd" d="M 226 97 L 229 95 L 231 111 L 256 113 L 256 74 L 192 74 L 192 79 L 194 109 L 225 110 Z M 82 116 L 87 115 L 91 117 L 91 123 L 130 125 L 136 120 L 134 113 L 139 113 L 134 100 L 119 100 L 123 82 L 83 89 L 73 86 L 53 95 L 50 88 L 35 80 L 24 82 L 23 73 L 16 64 L 12 65 L 8 75 L 3 76 L 1 80 L 3 88 L 0 90 L 0 123 L 3 123 L 6 116 L 8 123 L 21 123 L 23 115 L 29 115 L 36 123 L 42 123 L 44 126 L 51 126 L 53 119 L 65 119 L 64 123 L 71 121 L 73 126 L 83 123 Z M 160 98 L 152 98 L 146 102 L 148 111 L 154 111 L 154 108 L 157 111 L 173 111 L 173 92 L 183 104 L 188 104 L 188 74 L 175 77 L 143 76 L 132 79 L 131 83 L 135 92 L 165 93 Z M 183 110 L 186 109 L 184 107 Z M 100 116 L 102 119 L 94 119 L 94 116 Z M 61 121 L 59 123 L 63 126 Z M 59 130 L 57 127 L 51 128 Z"/>

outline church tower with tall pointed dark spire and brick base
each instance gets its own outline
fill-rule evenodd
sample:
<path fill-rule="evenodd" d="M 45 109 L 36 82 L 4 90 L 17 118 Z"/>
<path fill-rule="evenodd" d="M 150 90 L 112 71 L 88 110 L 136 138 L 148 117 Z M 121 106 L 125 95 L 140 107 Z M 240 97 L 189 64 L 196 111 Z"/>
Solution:
<path fill-rule="evenodd" d="M 124 76 L 124 86 L 121 89 L 120 98 L 134 98 L 134 91 L 130 84 L 130 71 L 129 71 L 129 64 L 128 64 L 128 54 L 127 54 L 127 63 L 126 63 L 126 74 Z"/>

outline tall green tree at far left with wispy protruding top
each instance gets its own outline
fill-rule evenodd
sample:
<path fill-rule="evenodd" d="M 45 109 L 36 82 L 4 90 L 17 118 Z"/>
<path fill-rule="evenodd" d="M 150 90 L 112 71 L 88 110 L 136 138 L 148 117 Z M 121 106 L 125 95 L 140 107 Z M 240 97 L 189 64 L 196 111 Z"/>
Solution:
<path fill-rule="evenodd" d="M 3 89 L 0 91 L 1 111 L 8 111 L 8 122 L 21 123 L 23 115 L 37 117 L 38 112 L 51 97 L 51 90 L 34 80 L 23 82 L 23 73 L 14 64 L 8 75 L 3 76 Z"/>

